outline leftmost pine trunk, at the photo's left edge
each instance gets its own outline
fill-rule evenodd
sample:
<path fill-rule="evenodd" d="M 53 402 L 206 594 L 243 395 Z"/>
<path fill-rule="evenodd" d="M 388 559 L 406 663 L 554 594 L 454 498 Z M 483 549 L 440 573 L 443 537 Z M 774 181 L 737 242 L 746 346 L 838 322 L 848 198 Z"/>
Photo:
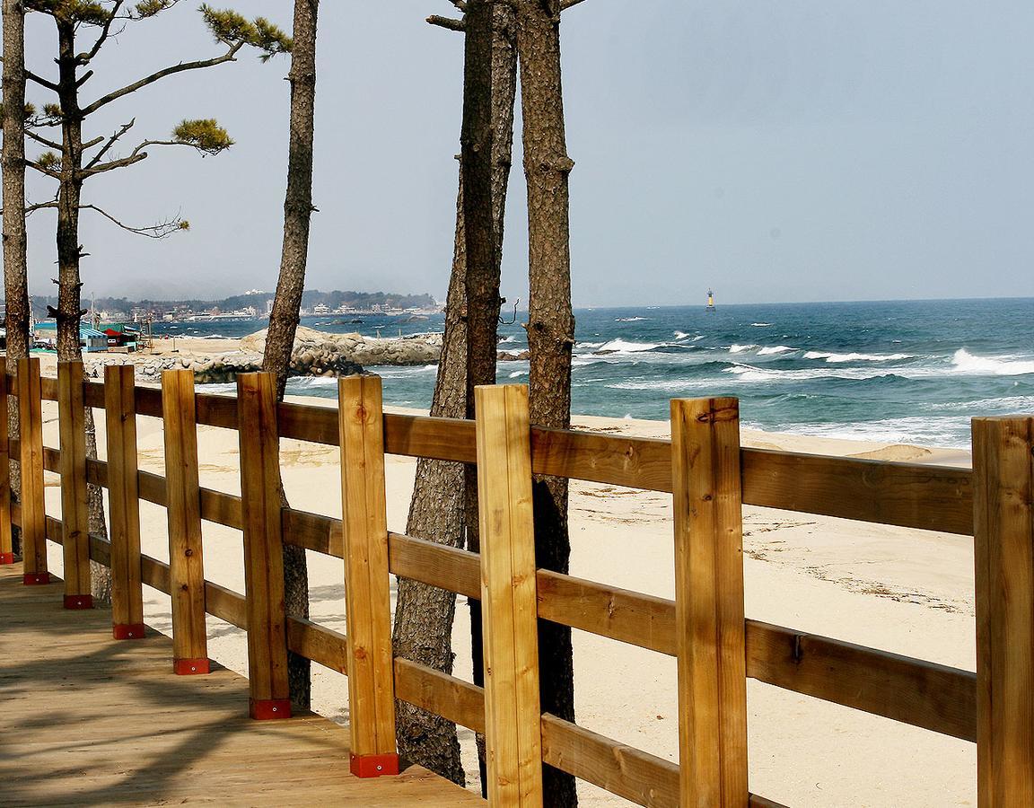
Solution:
<path fill-rule="evenodd" d="M 3 0 L 3 282 L 7 307 L 7 369 L 29 355 L 29 285 L 25 232 L 25 9 Z M 19 437 L 18 408 L 8 406 L 7 428 Z M 10 488 L 22 490 L 22 467 L 10 462 Z M 12 531 L 13 550 L 22 537 Z"/>

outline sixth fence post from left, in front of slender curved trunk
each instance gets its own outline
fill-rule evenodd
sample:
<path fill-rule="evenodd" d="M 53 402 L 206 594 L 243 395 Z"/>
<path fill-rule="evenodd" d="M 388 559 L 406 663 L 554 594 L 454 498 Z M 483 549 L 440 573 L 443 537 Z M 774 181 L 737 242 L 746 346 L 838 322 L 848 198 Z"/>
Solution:
<path fill-rule="evenodd" d="M 276 375 L 239 373 L 237 413 L 248 612 L 249 712 L 257 719 L 291 718 Z"/>

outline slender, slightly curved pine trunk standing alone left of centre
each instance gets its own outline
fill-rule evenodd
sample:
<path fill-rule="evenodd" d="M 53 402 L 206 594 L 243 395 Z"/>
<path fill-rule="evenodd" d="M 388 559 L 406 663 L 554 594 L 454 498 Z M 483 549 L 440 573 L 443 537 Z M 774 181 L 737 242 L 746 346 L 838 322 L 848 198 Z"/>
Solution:
<path fill-rule="evenodd" d="M 287 191 L 283 202 L 283 249 L 276 297 L 269 318 L 263 370 L 276 373 L 277 399 L 283 400 L 291 355 L 298 330 L 305 289 L 312 215 L 312 143 L 316 94 L 316 20 L 320 0 L 295 0 L 294 40 L 291 54 L 291 133 L 287 155 Z M 280 498 L 287 505 L 283 487 Z M 283 545 L 284 603 L 288 615 L 309 616 L 308 565 L 305 550 Z M 311 701 L 309 660 L 287 655 L 291 699 L 301 708 Z"/>

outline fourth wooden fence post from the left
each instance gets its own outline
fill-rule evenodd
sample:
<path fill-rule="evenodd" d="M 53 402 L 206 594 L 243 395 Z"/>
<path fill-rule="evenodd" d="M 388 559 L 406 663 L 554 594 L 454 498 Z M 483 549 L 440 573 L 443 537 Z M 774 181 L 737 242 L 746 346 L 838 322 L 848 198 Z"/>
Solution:
<path fill-rule="evenodd" d="M 108 498 L 112 540 L 112 633 L 144 636 L 136 468 L 136 395 L 132 365 L 104 367 Z"/>

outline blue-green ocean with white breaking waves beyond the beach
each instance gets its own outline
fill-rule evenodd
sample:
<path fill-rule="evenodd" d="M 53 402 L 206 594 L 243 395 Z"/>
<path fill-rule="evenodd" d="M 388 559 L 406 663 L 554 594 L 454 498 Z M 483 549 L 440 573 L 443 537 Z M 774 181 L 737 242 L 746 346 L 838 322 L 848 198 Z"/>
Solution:
<path fill-rule="evenodd" d="M 527 347 L 499 327 L 499 349 Z M 576 310 L 574 413 L 666 419 L 675 397 L 733 395 L 744 426 L 769 431 L 968 447 L 973 416 L 1034 413 L 1034 298 L 645 306 Z M 368 335 L 440 331 L 414 323 L 305 318 Z M 242 336 L 264 321 L 163 324 L 156 331 Z M 370 367 L 385 402 L 430 407 L 435 366 Z M 500 383 L 527 362 L 499 362 Z M 288 393 L 336 395 L 334 380 L 295 379 Z"/>

